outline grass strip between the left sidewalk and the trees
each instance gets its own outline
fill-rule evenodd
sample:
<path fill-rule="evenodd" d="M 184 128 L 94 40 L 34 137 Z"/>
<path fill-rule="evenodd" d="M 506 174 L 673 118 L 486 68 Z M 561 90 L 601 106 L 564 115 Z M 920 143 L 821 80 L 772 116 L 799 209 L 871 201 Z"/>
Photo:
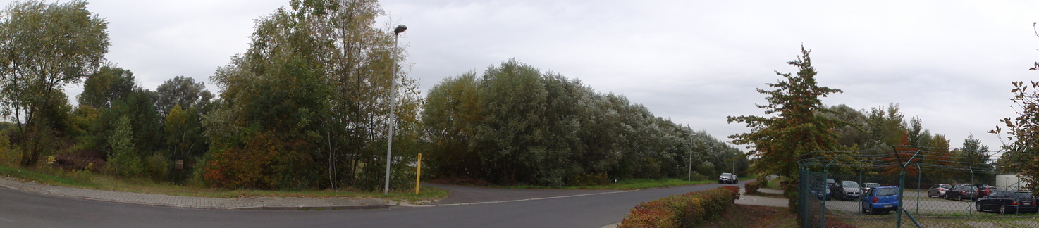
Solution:
<path fill-rule="evenodd" d="M 0 175 L 23 180 L 35 181 L 52 186 L 63 186 L 80 189 L 121 191 L 133 193 L 161 194 L 171 196 L 237 198 L 237 197 L 351 197 L 351 198 L 382 198 L 394 201 L 420 202 L 431 199 L 442 199 L 449 192 L 442 189 L 423 187 L 421 194 L 416 195 L 415 189 L 391 191 L 383 196 L 381 191 L 365 192 L 356 190 L 313 190 L 313 191 L 265 191 L 265 190 L 224 190 L 194 186 L 172 184 L 153 181 L 145 178 L 119 178 L 103 174 L 64 171 L 50 168 L 34 170 L 12 168 L 0 165 Z"/>

